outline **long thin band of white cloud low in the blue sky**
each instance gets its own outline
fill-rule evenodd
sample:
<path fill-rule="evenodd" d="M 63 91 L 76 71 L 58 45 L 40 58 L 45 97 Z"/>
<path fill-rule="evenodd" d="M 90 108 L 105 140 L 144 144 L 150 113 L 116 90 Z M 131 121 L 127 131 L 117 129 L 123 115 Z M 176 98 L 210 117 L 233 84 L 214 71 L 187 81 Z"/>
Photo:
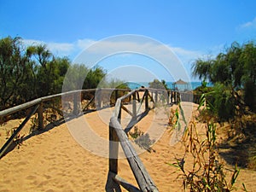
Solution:
<path fill-rule="evenodd" d="M 44 42 L 35 39 L 24 39 L 23 43 L 26 46 L 29 45 L 38 45 L 38 44 L 46 44 L 47 48 L 53 52 L 55 55 L 63 56 L 63 55 L 78 55 L 84 49 L 90 47 L 90 45 L 95 44 L 96 41 L 88 38 L 79 39 L 73 43 L 55 43 L 55 42 Z M 165 56 L 167 53 L 163 50 L 163 46 L 171 49 L 175 55 L 179 57 L 179 59 L 183 62 L 188 62 L 193 59 L 198 58 L 202 53 L 200 51 L 194 51 L 189 49 L 183 49 L 180 47 L 172 47 L 169 45 L 154 45 L 150 43 L 135 43 L 135 42 L 102 42 L 100 46 L 92 46 L 93 48 L 90 49 L 90 52 L 95 52 L 99 54 L 108 54 L 113 52 L 119 52 L 121 49 L 131 49 L 134 52 L 139 52 L 140 50 L 148 50 L 147 52 L 150 53 L 160 53 L 160 55 Z M 108 48 L 108 49 L 106 49 Z M 71 58 L 73 59 L 73 58 Z"/>

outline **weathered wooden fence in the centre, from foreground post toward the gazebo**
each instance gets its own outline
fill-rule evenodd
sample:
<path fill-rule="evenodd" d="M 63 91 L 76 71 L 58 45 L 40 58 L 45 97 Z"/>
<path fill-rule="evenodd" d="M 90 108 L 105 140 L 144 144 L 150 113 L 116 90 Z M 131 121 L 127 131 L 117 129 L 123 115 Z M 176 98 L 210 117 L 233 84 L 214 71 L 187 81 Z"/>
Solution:
<path fill-rule="evenodd" d="M 143 97 L 140 98 L 140 92 L 143 92 Z M 150 95 L 151 93 L 151 95 Z M 132 112 L 123 106 L 123 100 L 132 96 Z M 171 102 L 178 102 L 179 95 L 174 91 L 167 90 L 154 90 L 154 89 L 138 89 L 132 90 L 125 96 L 119 97 L 115 104 L 113 111 L 113 116 L 109 122 L 109 172 L 108 180 L 106 183 L 106 191 L 121 191 L 119 185 L 127 189 L 128 191 L 154 191 L 157 192 L 158 189 L 154 184 L 154 181 L 149 176 L 146 168 L 143 166 L 143 162 L 137 155 L 136 150 L 132 147 L 129 138 L 127 137 L 128 131 L 131 127 L 122 128 L 121 125 L 121 109 L 124 109 L 126 113 L 129 113 L 132 117 L 131 122 L 128 126 L 135 125 L 139 119 L 137 119 L 138 111 L 137 102 L 139 102 L 138 109 L 141 109 L 143 102 L 145 103 L 144 113 L 147 113 L 149 108 L 149 102 L 153 102 L 153 108 L 158 104 L 158 102 L 166 102 L 169 104 Z M 118 153 L 119 153 L 119 143 L 125 153 L 125 157 L 131 166 L 131 171 L 137 180 L 137 187 L 133 186 L 131 183 L 127 183 L 124 179 L 118 176 Z"/>

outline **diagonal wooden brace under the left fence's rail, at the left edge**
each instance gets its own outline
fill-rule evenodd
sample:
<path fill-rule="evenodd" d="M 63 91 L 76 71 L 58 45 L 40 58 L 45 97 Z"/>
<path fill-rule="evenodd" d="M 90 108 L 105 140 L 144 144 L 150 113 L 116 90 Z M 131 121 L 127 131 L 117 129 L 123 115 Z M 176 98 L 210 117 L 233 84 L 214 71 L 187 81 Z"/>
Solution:
<path fill-rule="evenodd" d="M 38 107 L 39 107 L 39 104 L 36 105 L 34 108 L 32 108 L 31 112 L 26 116 L 26 119 L 24 119 L 20 124 L 20 126 L 15 130 L 14 134 L 11 137 L 9 137 L 6 143 L 3 144 L 3 147 L 0 149 L 0 158 L 2 158 L 3 154 L 9 148 L 10 144 L 13 143 L 13 140 L 19 134 L 22 128 L 26 125 L 26 122 L 31 118 L 32 114 L 38 110 Z"/>

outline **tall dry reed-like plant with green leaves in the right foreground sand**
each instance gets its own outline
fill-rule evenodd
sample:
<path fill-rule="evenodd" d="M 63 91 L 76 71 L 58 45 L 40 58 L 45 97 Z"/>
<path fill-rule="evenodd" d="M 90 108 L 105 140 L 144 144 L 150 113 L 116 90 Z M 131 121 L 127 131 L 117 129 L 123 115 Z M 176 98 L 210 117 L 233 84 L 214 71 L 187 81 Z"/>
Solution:
<path fill-rule="evenodd" d="M 203 95 L 198 110 L 204 111 L 212 108 L 212 106 L 206 106 L 205 99 Z M 216 123 L 212 119 L 206 119 L 203 135 L 198 133 L 196 127 L 195 120 L 189 123 L 183 137 L 185 154 L 183 158 L 176 158 L 175 163 L 169 164 L 182 172 L 178 177 L 183 177 L 183 189 L 189 189 L 189 191 L 233 190 L 240 170 L 235 166 L 230 183 L 228 183 L 224 173 L 224 164 L 218 157 Z M 186 164 L 188 155 L 193 158 L 192 166 Z M 245 189 L 244 185 L 243 187 Z"/>

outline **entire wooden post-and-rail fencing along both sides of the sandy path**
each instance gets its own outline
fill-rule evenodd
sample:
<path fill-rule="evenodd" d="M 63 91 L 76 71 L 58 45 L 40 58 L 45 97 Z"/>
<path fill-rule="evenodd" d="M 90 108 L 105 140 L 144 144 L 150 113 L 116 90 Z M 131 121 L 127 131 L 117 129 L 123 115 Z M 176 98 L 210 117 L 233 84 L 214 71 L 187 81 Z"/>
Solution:
<path fill-rule="evenodd" d="M 128 191 L 158 191 L 126 134 L 131 130 L 133 125 L 143 118 L 143 114 L 146 115 L 148 110 L 154 108 L 159 102 L 179 102 L 180 95 L 178 92 L 171 90 L 138 89 L 129 91 L 130 90 L 119 89 L 73 90 L 53 96 L 44 96 L 32 102 L 26 102 L 14 108 L 1 111 L 0 123 L 1 119 L 3 122 L 3 119 L 9 115 L 30 109 L 30 112 L 27 113 L 26 118 L 20 126 L 15 130 L 13 135 L 9 137 L 7 142 L 3 144 L 3 147 L 0 149 L 0 158 L 6 154 L 10 144 L 13 143 L 14 138 L 19 134 L 21 129 L 26 125 L 26 122 L 34 113 L 38 113 L 38 130 L 44 130 L 44 112 L 47 108 L 51 108 L 57 113 L 61 113 L 63 117 L 73 117 L 87 113 L 91 108 L 96 110 L 100 108 L 108 108 L 115 104 L 114 113 L 109 123 L 109 172 L 106 191 L 121 191 L 120 185 Z M 143 93 L 143 96 L 141 93 Z M 106 94 L 108 96 L 106 96 Z M 104 103 L 104 98 L 106 97 L 109 99 Z M 83 106 L 82 101 L 84 99 L 88 102 Z M 70 103 L 70 101 L 72 101 L 72 103 Z M 131 103 L 132 109 L 129 110 L 126 108 L 125 103 Z M 138 106 L 137 103 L 139 103 Z M 143 103 L 144 112 L 138 115 L 137 109 L 141 109 L 143 107 Z M 152 103 L 151 107 L 149 106 L 150 103 Z M 67 110 L 65 111 L 66 104 Z M 125 129 L 123 129 L 121 125 L 122 110 L 130 114 L 132 119 L 131 124 L 125 127 Z M 129 165 L 131 166 L 131 170 L 137 180 L 139 189 L 118 176 L 119 143 L 124 150 Z"/>

